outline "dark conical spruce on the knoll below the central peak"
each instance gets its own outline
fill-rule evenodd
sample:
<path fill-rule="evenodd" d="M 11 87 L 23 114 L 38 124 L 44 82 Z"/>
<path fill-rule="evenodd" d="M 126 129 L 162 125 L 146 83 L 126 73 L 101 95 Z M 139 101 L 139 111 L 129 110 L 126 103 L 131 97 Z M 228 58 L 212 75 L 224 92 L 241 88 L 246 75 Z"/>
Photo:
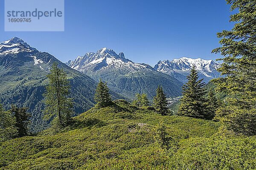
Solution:
<path fill-rule="evenodd" d="M 94 100 L 96 106 L 99 108 L 104 108 L 113 104 L 107 83 L 102 82 L 101 79 L 97 85 Z"/>

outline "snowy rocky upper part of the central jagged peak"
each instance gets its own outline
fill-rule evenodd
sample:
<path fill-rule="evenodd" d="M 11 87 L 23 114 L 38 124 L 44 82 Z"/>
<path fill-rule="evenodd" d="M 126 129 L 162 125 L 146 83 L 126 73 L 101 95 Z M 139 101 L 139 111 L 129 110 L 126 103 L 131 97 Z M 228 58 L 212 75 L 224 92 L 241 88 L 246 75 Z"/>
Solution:
<path fill-rule="evenodd" d="M 122 52 L 116 54 L 115 51 L 108 48 L 102 48 L 96 53 L 86 53 L 83 57 L 79 56 L 74 61 L 70 60 L 66 64 L 81 72 L 107 69 L 122 69 L 128 71 L 142 69 L 154 70 L 150 65 L 132 62 L 126 59 Z"/>

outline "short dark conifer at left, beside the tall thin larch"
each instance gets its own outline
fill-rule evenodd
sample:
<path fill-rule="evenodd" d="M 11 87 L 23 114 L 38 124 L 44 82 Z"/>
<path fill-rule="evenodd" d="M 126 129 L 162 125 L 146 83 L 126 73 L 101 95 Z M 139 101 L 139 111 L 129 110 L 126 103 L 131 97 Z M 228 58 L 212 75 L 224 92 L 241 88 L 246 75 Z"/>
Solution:
<path fill-rule="evenodd" d="M 29 117 L 31 116 L 27 113 L 28 108 L 18 108 L 12 105 L 11 113 L 15 116 L 15 127 L 17 128 L 17 136 L 23 137 L 28 135 L 29 131 Z"/>

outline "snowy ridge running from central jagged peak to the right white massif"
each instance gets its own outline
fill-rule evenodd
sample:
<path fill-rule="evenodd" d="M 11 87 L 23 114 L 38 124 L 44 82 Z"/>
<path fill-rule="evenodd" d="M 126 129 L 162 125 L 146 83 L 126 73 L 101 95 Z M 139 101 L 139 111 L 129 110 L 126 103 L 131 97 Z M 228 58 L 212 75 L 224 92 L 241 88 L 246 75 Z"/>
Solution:
<path fill-rule="evenodd" d="M 101 48 L 96 53 L 86 53 L 82 57 L 77 57 L 74 61 L 69 60 L 66 64 L 84 74 L 88 74 L 88 72 L 91 74 L 99 70 L 104 71 L 109 69 L 125 70 L 126 73 L 129 71 L 145 71 L 150 69 L 151 71 L 168 74 L 183 83 L 186 82 L 186 77 L 189 75 L 192 66 L 195 65 L 200 78 L 204 79 L 205 82 L 220 77 L 220 73 L 217 71 L 220 64 L 213 60 L 182 57 L 173 60 L 160 60 L 153 68 L 148 64 L 136 63 L 130 59 L 126 59 L 123 52 L 116 54 L 115 51 L 108 48 Z"/>

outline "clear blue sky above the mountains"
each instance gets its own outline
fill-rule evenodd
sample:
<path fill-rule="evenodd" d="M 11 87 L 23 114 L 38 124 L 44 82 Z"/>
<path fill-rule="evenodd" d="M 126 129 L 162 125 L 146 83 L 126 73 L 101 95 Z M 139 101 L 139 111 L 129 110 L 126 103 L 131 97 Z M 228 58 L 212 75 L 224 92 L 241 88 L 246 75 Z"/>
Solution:
<path fill-rule="evenodd" d="M 62 62 L 107 47 L 134 62 L 154 65 L 180 57 L 216 59 L 216 32 L 232 28 L 225 0 L 65 0 L 64 32 L 5 32 Z"/>

